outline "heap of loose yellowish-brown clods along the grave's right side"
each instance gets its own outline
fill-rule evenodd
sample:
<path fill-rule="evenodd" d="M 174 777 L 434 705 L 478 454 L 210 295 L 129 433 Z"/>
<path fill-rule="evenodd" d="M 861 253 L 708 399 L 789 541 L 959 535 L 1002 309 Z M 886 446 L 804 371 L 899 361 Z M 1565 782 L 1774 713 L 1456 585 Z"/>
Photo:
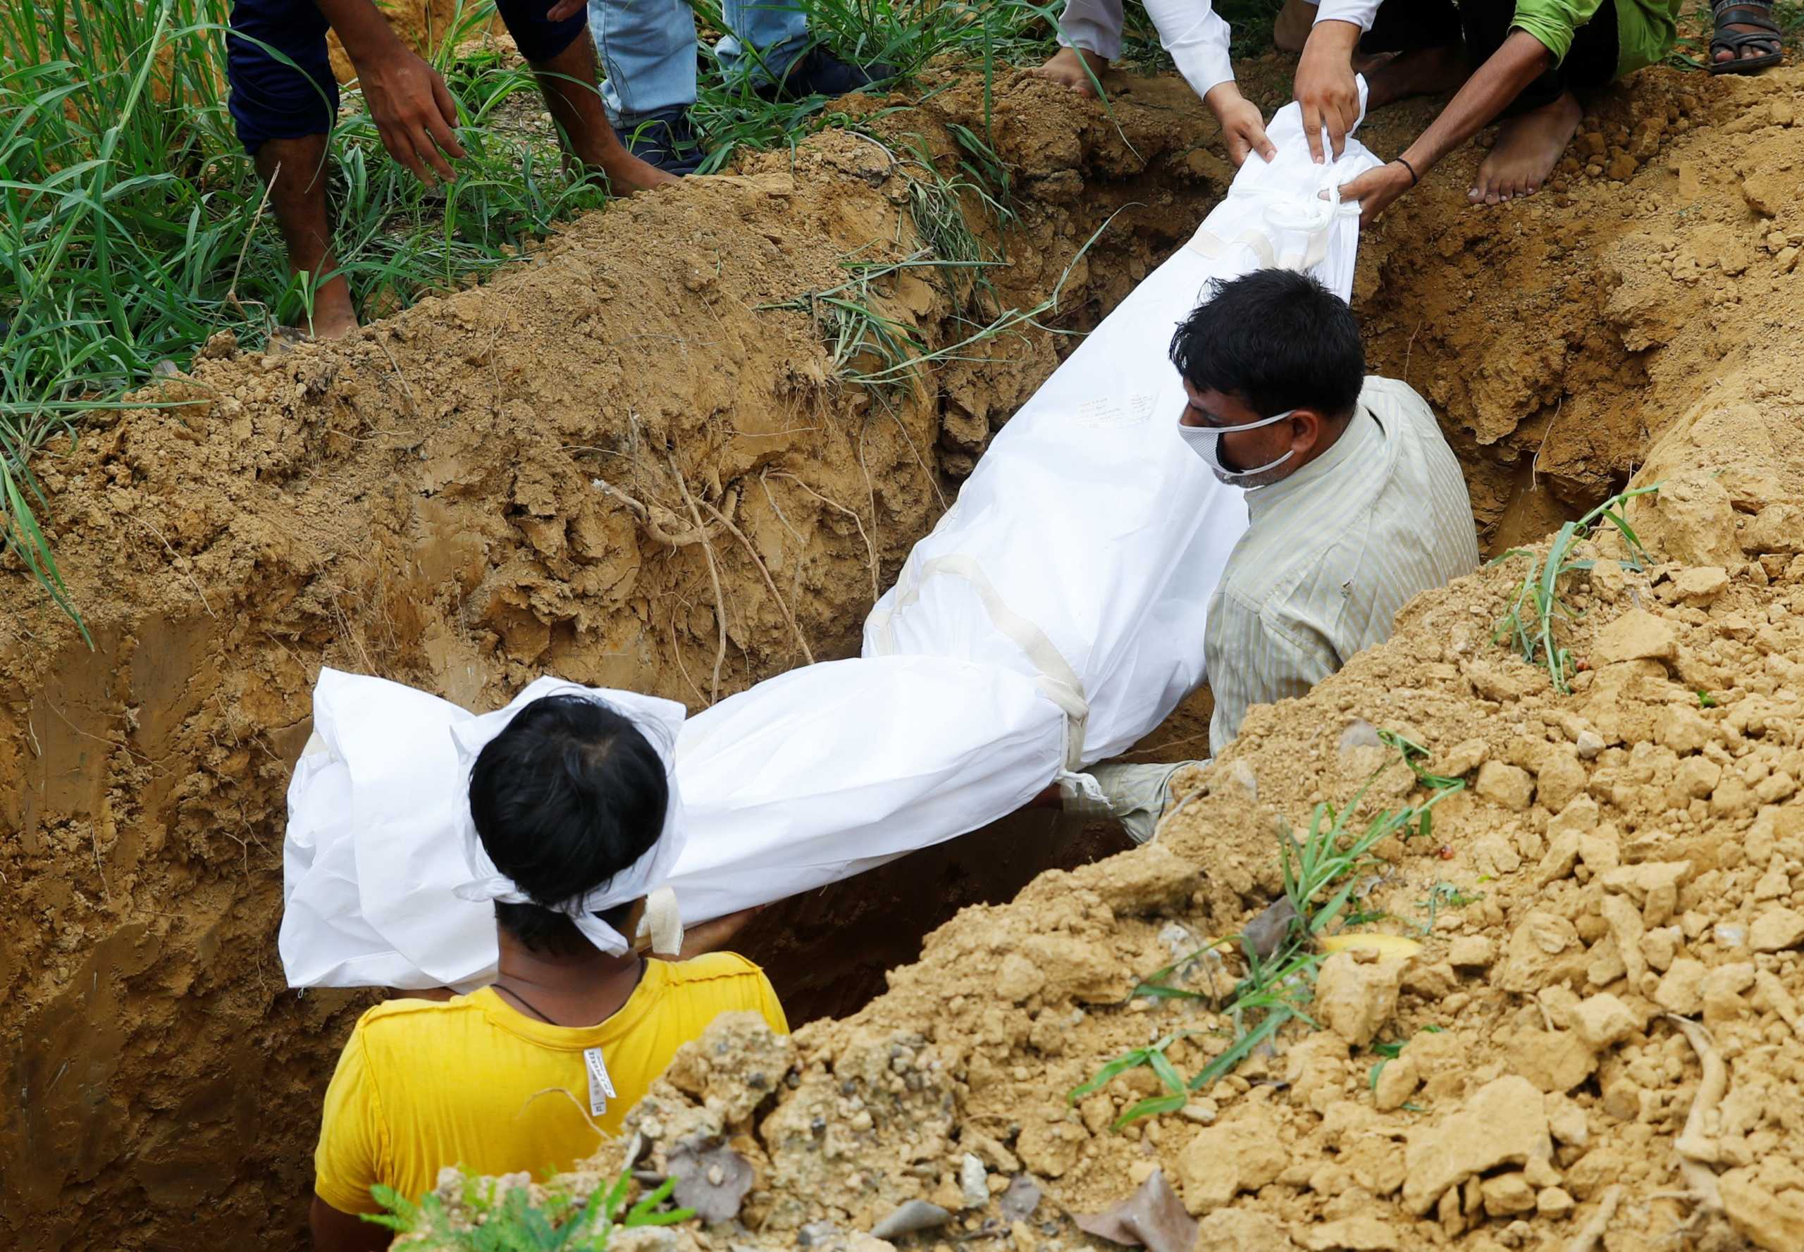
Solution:
<path fill-rule="evenodd" d="M 1651 78 L 1615 103 L 1698 83 Z M 1611 339 L 1625 354 L 1616 370 L 1636 382 L 1607 395 L 1633 397 L 1652 438 L 1606 442 L 1598 424 L 1634 428 L 1609 428 L 1589 400 L 1571 438 L 1598 473 L 1625 458 L 1634 485 L 1661 485 L 1625 516 L 1649 561 L 1625 566 L 1607 534 L 1571 554 L 1588 568 L 1562 583 L 1569 691 L 1496 639 L 1542 538 L 1418 597 L 1387 644 L 1308 696 L 1254 711 L 1209 769 L 1178 776 L 1187 801 L 1153 844 L 962 911 L 850 1017 L 790 1039 L 718 1023 L 570 1183 L 630 1156 L 664 1173 L 696 1138 L 731 1146 L 756 1171 L 736 1223 L 635 1243 L 671 1252 L 1113 1247 L 1073 1216 L 1155 1174 L 1196 1223 L 1171 1247 L 1196 1252 L 1804 1247 L 1804 372 L 1779 350 L 1804 321 L 1782 202 L 1804 179 L 1790 126 L 1800 81 L 1728 88 L 1694 114 L 1698 133 L 1618 164 L 1622 179 L 1580 177 L 1510 211 L 1597 249 L 1568 253 L 1568 272 L 1598 290 L 1559 290 L 1593 307 L 1598 357 Z M 1431 186 L 1447 200 L 1461 189 Z M 1427 211 L 1371 242 L 1378 318 L 1411 307 L 1387 281 L 1405 263 L 1398 231 Z M 1486 240 L 1508 240 L 1510 213 L 1454 218 L 1449 236 L 1488 222 Z M 1544 254 L 1546 238 L 1517 245 Z M 1434 249 L 1416 240 L 1416 253 Z M 1508 251 L 1494 260 L 1510 272 Z M 1503 299 L 1465 290 L 1472 305 Z M 1472 328 L 1481 314 L 1465 303 L 1447 301 L 1436 339 Z M 1375 328 L 1380 361 L 1402 325 Z M 1512 323 L 1514 343 L 1560 364 L 1560 332 L 1544 328 Z M 1503 411 L 1485 408 L 1496 388 L 1472 386 L 1499 375 L 1423 361 L 1429 334 L 1413 381 L 1465 447 L 1532 447 L 1532 428 L 1492 428 L 1486 444 L 1461 424 Z M 1501 359 L 1496 339 L 1483 361 Z M 1566 352 L 1566 370 L 1602 368 Z M 1283 895 L 1283 832 L 1317 805 L 1367 781 L 1355 826 L 1420 803 L 1380 729 L 1465 783 L 1432 832 L 1380 842 L 1355 879 L 1358 929 L 1418 951 L 1328 956 L 1306 1007 L 1319 1028 L 1284 1026 L 1182 1109 L 1113 1129 L 1164 1091 L 1147 1066 L 1068 1099 L 1131 1048 L 1174 1037 L 1165 1055 L 1189 1077 L 1229 1046 L 1212 996 L 1238 976 L 1234 956 L 1182 967 L 1171 985 L 1189 999 L 1135 989 Z M 936 1225 L 893 1245 L 870 1234 L 904 1211 Z"/>

